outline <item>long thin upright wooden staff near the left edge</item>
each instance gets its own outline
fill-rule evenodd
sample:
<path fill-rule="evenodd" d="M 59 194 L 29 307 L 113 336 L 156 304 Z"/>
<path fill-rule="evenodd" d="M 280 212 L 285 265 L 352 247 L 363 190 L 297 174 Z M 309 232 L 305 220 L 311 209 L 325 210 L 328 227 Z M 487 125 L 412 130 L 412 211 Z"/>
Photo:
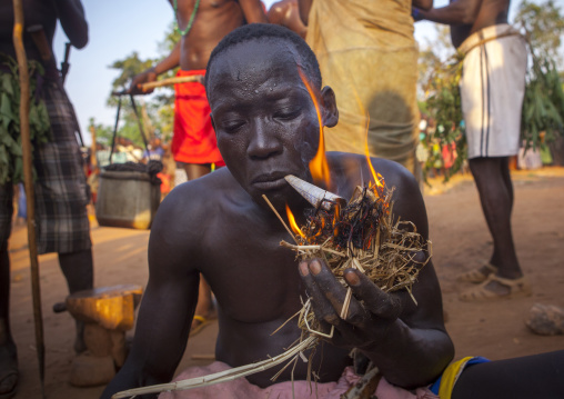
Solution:
<path fill-rule="evenodd" d="M 23 47 L 23 7 L 21 0 L 13 0 L 13 47 L 18 59 L 20 77 L 20 132 L 23 158 L 23 180 L 28 198 L 28 243 L 31 261 L 31 292 L 33 297 L 33 318 L 36 321 L 36 347 L 39 361 L 41 396 L 44 398 L 46 347 L 43 340 L 43 318 L 41 313 L 41 289 L 39 285 L 39 263 L 36 241 L 36 209 L 33 176 L 31 171 L 31 140 L 29 129 L 29 71 L 28 57 Z"/>

